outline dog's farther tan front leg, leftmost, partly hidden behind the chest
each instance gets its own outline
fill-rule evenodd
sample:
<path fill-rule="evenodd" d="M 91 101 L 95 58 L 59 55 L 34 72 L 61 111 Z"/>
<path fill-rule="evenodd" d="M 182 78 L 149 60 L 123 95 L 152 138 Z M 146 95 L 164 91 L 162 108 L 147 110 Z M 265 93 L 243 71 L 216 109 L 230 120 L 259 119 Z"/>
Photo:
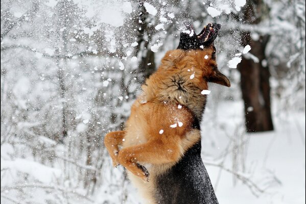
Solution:
<path fill-rule="evenodd" d="M 119 145 L 122 144 L 126 131 L 115 131 L 107 133 L 104 137 L 104 145 L 112 159 L 113 166 L 119 165 Z"/>

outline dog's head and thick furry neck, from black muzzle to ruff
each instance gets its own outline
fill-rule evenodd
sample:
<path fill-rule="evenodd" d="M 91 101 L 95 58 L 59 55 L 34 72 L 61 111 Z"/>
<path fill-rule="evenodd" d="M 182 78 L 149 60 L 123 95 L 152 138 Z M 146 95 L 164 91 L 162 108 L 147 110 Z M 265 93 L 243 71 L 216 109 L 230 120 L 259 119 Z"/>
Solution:
<path fill-rule="evenodd" d="M 208 89 L 208 82 L 230 87 L 216 63 L 214 40 L 220 28 L 220 24 L 209 23 L 196 35 L 193 27 L 187 26 L 178 48 L 166 53 L 157 71 L 143 85 L 146 98 L 189 107 L 200 120 L 206 103 L 202 91 Z"/>

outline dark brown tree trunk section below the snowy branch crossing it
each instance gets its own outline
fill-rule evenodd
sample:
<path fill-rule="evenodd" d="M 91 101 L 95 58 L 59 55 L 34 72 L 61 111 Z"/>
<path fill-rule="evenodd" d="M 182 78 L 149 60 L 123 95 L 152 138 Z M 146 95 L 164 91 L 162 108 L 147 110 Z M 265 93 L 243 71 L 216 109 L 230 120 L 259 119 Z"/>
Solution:
<path fill-rule="evenodd" d="M 272 131 L 273 122 L 271 116 L 270 101 L 270 71 L 269 67 L 264 67 L 262 61 L 265 60 L 265 49 L 269 37 L 261 37 L 259 41 L 254 41 L 250 33 L 244 35 L 244 45 L 249 44 L 252 55 L 256 56 L 259 62 L 253 59 L 243 58 L 238 65 L 241 73 L 241 91 L 245 104 L 245 122 L 247 132 Z M 256 60 L 255 60 L 256 61 Z"/>

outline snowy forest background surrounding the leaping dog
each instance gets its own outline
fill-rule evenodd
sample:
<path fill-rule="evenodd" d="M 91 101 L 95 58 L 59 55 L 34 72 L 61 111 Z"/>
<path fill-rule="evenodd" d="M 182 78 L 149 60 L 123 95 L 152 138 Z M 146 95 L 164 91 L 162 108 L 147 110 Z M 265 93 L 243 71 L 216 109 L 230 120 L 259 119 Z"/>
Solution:
<path fill-rule="evenodd" d="M 103 138 L 184 21 L 222 24 L 232 86 L 201 124 L 219 202 L 305 203 L 303 0 L 1 0 L 1 202 L 140 203 Z"/>

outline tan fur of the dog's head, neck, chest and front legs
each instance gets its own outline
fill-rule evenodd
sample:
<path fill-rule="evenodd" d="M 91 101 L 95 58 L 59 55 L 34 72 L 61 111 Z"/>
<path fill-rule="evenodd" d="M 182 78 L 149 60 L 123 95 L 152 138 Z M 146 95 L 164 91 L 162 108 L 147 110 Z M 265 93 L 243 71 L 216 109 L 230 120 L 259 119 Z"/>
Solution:
<path fill-rule="evenodd" d="M 200 140 L 200 131 L 192 125 L 195 118 L 201 118 L 205 106 L 206 96 L 201 91 L 208 89 L 207 79 L 216 74 L 213 52 L 213 46 L 205 50 L 167 52 L 158 70 L 142 86 L 143 93 L 131 107 L 125 131 L 105 136 L 113 164 L 120 163 L 128 170 L 129 179 L 147 197 L 148 203 L 155 203 L 156 176 L 176 164 Z M 208 59 L 204 58 L 206 55 Z M 177 126 L 171 127 L 173 124 Z M 118 145 L 123 147 L 120 151 Z M 137 164 L 147 168 L 149 182 Z"/>

